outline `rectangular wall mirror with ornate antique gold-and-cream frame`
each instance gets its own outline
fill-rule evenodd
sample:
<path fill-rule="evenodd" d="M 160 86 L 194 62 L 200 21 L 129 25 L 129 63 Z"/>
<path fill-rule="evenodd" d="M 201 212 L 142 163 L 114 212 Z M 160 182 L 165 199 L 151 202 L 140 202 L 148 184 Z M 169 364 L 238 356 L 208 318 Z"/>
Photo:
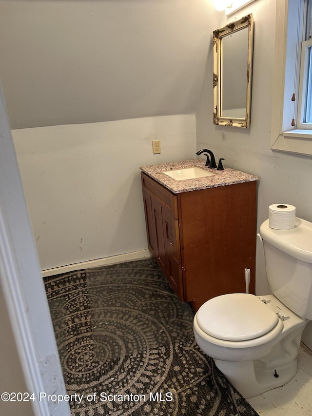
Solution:
<path fill-rule="evenodd" d="M 253 17 L 214 31 L 214 124 L 249 127 Z"/>

